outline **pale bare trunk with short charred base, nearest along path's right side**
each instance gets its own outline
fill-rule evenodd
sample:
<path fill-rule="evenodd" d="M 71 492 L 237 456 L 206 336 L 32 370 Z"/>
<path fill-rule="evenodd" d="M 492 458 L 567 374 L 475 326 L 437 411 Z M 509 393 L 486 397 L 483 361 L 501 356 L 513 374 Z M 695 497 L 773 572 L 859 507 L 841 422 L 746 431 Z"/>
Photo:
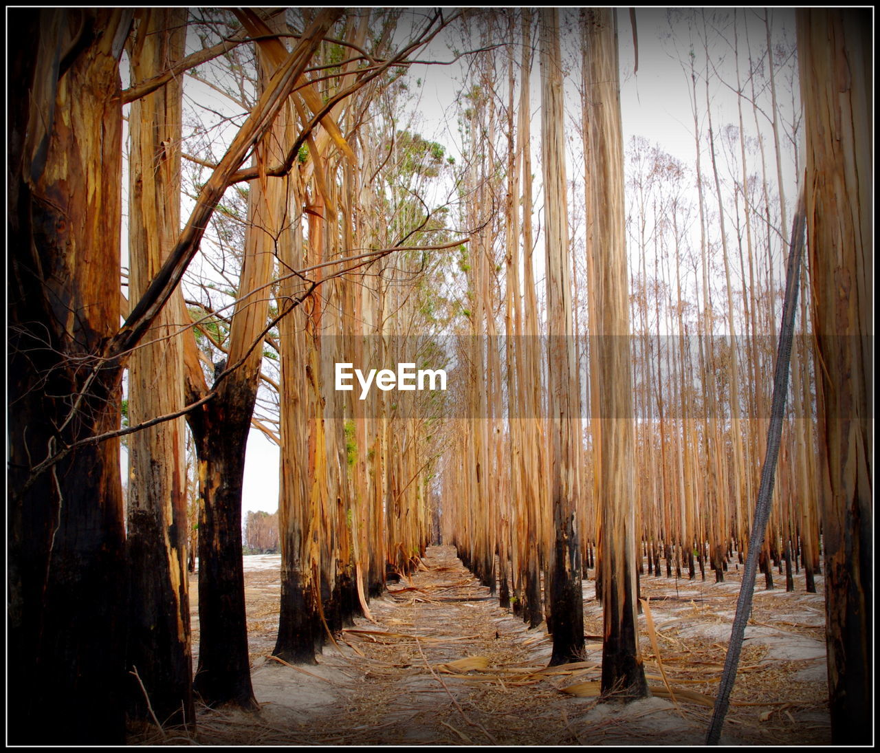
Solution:
<path fill-rule="evenodd" d="M 636 634 L 633 398 L 630 364 L 627 241 L 623 199 L 623 139 L 617 19 L 597 11 L 590 28 L 598 321 L 595 347 L 602 422 L 599 504 L 602 520 L 602 593 L 605 633 L 602 691 L 627 698 L 648 694 Z M 603 258 L 604 257 L 604 258 Z"/>

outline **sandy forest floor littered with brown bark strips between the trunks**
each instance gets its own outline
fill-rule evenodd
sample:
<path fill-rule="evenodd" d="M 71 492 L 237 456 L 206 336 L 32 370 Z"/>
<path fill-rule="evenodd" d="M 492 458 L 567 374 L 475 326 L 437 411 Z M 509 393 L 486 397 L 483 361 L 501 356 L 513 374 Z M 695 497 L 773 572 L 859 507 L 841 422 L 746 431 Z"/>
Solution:
<path fill-rule="evenodd" d="M 253 689 L 260 712 L 202 707 L 202 744 L 575 745 L 702 744 L 722 673 L 741 572 L 723 583 L 643 576 L 659 663 L 646 615 L 642 657 L 653 697 L 600 702 L 602 609 L 595 581 L 583 583 L 583 661 L 547 668 L 545 626 L 529 630 L 501 609 L 450 546 L 430 547 L 425 570 L 370 602 L 336 636 L 317 666 L 269 658 L 275 645 L 280 557 L 246 557 Z M 764 589 L 759 575 L 722 744 L 819 745 L 831 741 L 825 675 L 823 579 L 818 594 Z M 781 587 L 780 587 L 781 585 Z M 196 594 L 195 581 L 190 594 Z M 193 603 L 194 650 L 198 646 Z M 660 672 L 660 664 L 666 680 Z M 568 690 L 566 690 L 568 689 Z M 669 689 L 675 695 L 670 698 Z M 577 694 L 577 695 L 576 695 Z M 135 742 L 135 741 L 132 741 Z"/>

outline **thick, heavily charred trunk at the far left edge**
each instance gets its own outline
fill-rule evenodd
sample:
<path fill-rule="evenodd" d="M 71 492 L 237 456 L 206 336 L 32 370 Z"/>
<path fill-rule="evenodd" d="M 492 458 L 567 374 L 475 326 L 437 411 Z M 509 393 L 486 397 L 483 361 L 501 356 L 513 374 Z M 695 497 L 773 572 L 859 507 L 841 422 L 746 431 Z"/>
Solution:
<path fill-rule="evenodd" d="M 120 422 L 120 370 L 98 357 L 120 321 L 118 62 L 131 11 L 11 20 L 9 739 L 119 743 L 119 442 L 79 447 L 36 480 L 31 469 Z"/>

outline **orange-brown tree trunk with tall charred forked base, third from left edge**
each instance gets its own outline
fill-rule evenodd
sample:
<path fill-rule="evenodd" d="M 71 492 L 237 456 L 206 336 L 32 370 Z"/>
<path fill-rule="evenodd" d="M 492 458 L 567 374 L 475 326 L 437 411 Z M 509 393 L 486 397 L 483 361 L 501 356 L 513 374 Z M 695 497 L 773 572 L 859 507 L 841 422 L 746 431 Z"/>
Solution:
<path fill-rule="evenodd" d="M 280 20 L 280 19 L 276 19 Z M 311 57 L 320 35 L 334 15 L 324 14 L 317 38 L 311 37 Z M 281 27 L 277 30 L 283 30 Z M 259 50 L 264 86 L 277 64 Z M 280 60 L 281 58 L 277 58 Z M 290 138 L 285 112 L 279 115 L 254 155 L 270 166 L 283 159 Z M 287 209 L 286 181 L 265 175 L 252 181 L 248 196 L 245 254 L 232 314 L 228 361 L 219 367 L 217 395 L 198 413 L 189 414 L 199 455 L 202 509 L 199 517 L 199 666 L 194 688 L 208 705 L 232 703 L 256 708 L 247 650 L 245 581 L 241 545 L 241 490 L 247 437 L 256 401 L 262 361 L 262 330 L 266 326 L 268 285 L 282 235 Z M 224 374 L 224 372 L 226 372 Z"/>

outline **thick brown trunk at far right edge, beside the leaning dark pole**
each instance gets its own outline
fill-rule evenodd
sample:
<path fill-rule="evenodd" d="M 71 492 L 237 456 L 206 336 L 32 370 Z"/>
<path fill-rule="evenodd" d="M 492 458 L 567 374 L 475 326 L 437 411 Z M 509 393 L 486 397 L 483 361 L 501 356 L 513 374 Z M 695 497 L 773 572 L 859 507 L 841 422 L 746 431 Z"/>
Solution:
<path fill-rule="evenodd" d="M 871 18 L 798 11 L 807 139 L 832 740 L 871 741 L 873 234 Z"/>

